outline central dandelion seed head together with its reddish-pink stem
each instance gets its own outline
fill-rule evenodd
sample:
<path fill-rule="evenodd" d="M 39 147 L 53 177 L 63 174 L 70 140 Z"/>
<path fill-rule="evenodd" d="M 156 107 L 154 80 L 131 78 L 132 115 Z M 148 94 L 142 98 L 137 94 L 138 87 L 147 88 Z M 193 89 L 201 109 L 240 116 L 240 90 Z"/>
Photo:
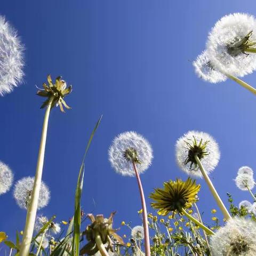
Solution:
<path fill-rule="evenodd" d="M 151 165 L 153 150 L 142 135 L 136 132 L 124 132 L 114 139 L 108 153 L 109 161 L 117 173 L 137 178 L 142 205 L 145 252 L 146 256 L 150 256 L 147 207 L 139 174 L 145 172 Z"/>

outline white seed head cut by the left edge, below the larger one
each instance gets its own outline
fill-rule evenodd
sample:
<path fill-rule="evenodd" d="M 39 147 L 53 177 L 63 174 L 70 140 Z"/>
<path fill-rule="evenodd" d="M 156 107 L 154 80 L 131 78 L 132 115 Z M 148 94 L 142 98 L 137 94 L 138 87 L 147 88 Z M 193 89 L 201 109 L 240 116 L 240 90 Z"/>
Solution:
<path fill-rule="evenodd" d="M 8 165 L 0 162 L 0 195 L 10 190 L 13 182 L 13 173 Z"/>

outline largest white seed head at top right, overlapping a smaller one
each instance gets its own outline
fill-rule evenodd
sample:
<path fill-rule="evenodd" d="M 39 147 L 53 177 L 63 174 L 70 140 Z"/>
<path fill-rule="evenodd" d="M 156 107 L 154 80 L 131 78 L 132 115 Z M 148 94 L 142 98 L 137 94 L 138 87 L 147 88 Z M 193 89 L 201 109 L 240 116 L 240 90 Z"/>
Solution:
<path fill-rule="evenodd" d="M 209 33 L 206 44 L 212 65 L 233 76 L 245 76 L 256 69 L 256 54 L 230 53 L 228 49 L 252 31 L 250 41 L 256 40 L 256 20 L 246 13 L 233 13 L 222 17 Z"/>

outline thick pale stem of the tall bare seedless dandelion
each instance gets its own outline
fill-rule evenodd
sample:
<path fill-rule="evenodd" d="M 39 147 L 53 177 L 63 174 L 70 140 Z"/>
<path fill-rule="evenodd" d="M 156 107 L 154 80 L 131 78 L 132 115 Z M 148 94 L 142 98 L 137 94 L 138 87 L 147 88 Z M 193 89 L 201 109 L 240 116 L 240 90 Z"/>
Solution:
<path fill-rule="evenodd" d="M 43 130 L 41 135 L 41 143 L 39 147 L 38 160 L 37 160 L 37 166 L 36 166 L 34 187 L 33 187 L 32 195 L 31 195 L 31 199 L 30 199 L 30 203 L 27 211 L 26 226 L 23 233 L 23 241 L 21 243 L 20 256 L 28 256 L 31 239 L 33 236 L 39 191 L 40 191 L 41 181 L 42 181 L 47 127 L 48 127 L 52 101 L 53 101 L 53 98 L 50 98 L 50 101 L 45 111 Z"/>

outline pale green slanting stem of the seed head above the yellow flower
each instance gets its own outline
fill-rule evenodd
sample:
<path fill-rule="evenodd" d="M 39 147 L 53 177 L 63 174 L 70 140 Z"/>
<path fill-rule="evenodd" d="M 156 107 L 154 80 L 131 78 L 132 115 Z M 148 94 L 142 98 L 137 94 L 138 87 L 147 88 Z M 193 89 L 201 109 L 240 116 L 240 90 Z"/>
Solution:
<path fill-rule="evenodd" d="M 226 208 L 226 206 L 223 204 L 223 202 L 221 201 L 221 198 L 219 196 L 219 194 L 217 193 L 216 189 L 214 188 L 213 184 L 212 184 L 212 181 L 210 180 L 210 178 L 208 177 L 206 171 L 204 170 L 204 166 L 202 165 L 200 159 L 198 158 L 197 155 L 195 155 L 195 159 L 196 159 L 196 162 L 199 166 L 199 169 L 201 170 L 201 173 L 204 177 L 204 180 L 205 182 L 207 183 L 209 189 L 211 190 L 211 193 L 215 199 L 215 201 L 217 202 L 218 206 L 220 207 L 220 210 L 222 211 L 223 215 L 224 215 L 224 218 L 226 220 L 230 219 L 231 216 Z"/>

